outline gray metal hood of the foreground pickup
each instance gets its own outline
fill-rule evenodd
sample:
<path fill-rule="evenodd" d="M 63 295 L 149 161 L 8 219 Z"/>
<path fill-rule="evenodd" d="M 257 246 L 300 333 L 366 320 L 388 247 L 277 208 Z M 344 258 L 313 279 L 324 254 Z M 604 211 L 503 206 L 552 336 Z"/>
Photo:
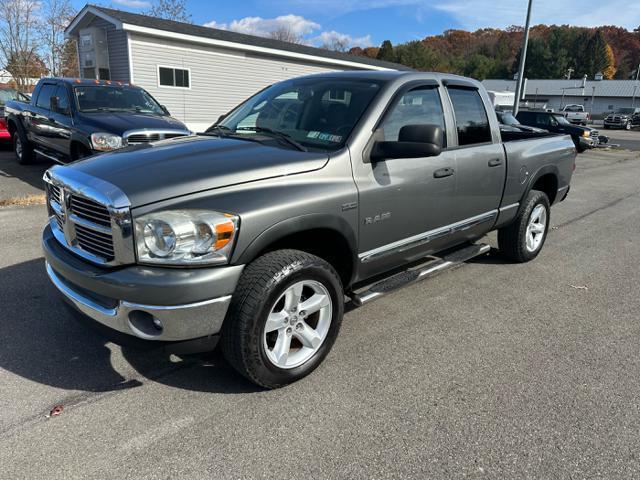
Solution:
<path fill-rule="evenodd" d="M 122 190 L 132 207 L 215 188 L 318 170 L 326 153 L 247 140 L 181 137 L 72 163 L 71 168 Z"/>

